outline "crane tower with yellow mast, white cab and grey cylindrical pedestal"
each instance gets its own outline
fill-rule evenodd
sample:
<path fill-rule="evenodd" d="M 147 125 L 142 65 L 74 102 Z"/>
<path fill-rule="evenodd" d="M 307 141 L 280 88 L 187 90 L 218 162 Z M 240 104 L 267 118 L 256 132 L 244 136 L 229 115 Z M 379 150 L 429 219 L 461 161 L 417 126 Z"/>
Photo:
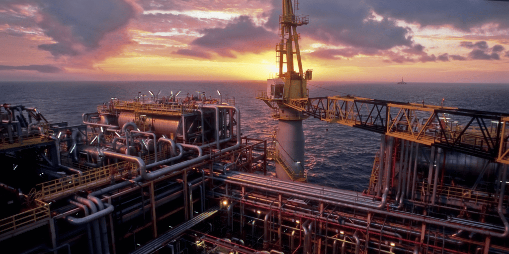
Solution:
<path fill-rule="evenodd" d="M 279 73 L 267 80 L 267 90 L 257 94 L 274 109 L 272 117 L 278 119 L 278 128 L 273 142 L 271 157 L 275 159 L 276 176 L 281 179 L 305 181 L 304 173 L 304 133 L 303 112 L 288 107 L 290 101 L 307 100 L 306 80 L 312 78 L 313 70 L 302 70 L 297 26 L 307 24 L 309 15 L 297 15 L 298 0 L 292 5 L 291 0 L 282 1 L 282 14 L 279 16 L 279 43 L 276 44 L 276 62 Z M 296 55 L 298 72 L 294 70 Z M 286 63 L 286 72 L 284 67 Z"/>

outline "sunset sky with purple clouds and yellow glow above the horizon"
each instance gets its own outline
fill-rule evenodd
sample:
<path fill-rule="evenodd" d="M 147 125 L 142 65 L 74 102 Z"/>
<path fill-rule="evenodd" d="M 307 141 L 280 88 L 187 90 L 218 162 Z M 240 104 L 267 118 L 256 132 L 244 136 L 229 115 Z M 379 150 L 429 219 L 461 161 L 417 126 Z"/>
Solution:
<path fill-rule="evenodd" d="M 300 0 L 315 81 L 509 83 L 509 2 Z M 280 0 L 3 0 L 0 81 L 265 80 Z"/>

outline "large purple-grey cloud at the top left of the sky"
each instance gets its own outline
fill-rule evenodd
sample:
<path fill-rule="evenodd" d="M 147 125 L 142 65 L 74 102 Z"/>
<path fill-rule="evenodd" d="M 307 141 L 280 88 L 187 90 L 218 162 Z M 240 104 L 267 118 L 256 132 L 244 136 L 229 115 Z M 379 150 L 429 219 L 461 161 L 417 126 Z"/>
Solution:
<path fill-rule="evenodd" d="M 49 51 L 55 57 L 75 56 L 99 48 L 106 34 L 125 27 L 135 15 L 134 8 L 123 0 L 38 2 L 42 17 L 39 26 L 46 36 L 56 41 L 42 44 L 39 49 Z M 118 43 L 128 42 L 119 40 Z"/>

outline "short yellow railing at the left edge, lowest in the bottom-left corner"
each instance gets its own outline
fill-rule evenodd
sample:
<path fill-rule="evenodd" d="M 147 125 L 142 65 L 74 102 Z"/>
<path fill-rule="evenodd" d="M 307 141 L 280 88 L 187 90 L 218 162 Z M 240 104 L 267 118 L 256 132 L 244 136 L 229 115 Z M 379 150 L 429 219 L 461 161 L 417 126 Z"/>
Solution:
<path fill-rule="evenodd" d="M 36 208 L 0 219 L 0 235 L 50 217 L 49 204 L 34 200 Z"/>

